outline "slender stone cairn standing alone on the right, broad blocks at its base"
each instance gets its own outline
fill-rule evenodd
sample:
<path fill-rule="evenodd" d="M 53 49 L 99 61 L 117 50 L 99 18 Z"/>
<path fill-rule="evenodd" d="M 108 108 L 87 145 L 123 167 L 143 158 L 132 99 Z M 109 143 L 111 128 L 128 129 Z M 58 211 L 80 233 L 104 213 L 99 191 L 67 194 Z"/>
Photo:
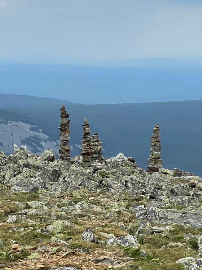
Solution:
<path fill-rule="evenodd" d="M 153 128 L 151 137 L 151 150 L 150 158 L 148 159 L 147 173 L 152 174 L 155 172 L 162 173 L 162 159 L 161 159 L 161 145 L 160 145 L 160 130 L 159 124 Z"/>

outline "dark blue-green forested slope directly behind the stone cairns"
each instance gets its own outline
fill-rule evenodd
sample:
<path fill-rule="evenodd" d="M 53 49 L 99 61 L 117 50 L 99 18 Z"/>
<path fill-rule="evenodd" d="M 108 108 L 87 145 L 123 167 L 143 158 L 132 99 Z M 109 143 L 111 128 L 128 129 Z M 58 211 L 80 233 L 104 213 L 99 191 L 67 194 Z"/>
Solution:
<path fill-rule="evenodd" d="M 72 146 L 81 143 L 83 119 L 87 118 L 91 132 L 99 132 L 105 157 L 123 152 L 133 156 L 143 168 L 147 166 L 152 128 L 159 123 L 163 167 L 179 167 L 202 176 L 202 100 L 106 105 L 58 103 L 53 100 L 49 108 L 46 104 L 39 108 L 28 102 L 27 107 L 10 106 L 8 110 L 4 100 L 0 118 L 35 124 L 55 141 L 59 139 L 60 106 L 64 104 L 70 113 Z M 72 155 L 77 154 L 79 148 L 73 149 Z"/>

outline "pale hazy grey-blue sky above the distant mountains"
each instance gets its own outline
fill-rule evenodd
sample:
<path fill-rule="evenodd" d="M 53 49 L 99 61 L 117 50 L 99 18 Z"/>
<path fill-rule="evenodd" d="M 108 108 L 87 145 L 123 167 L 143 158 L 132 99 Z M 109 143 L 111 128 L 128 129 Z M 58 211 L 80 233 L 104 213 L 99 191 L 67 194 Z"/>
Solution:
<path fill-rule="evenodd" d="M 202 55 L 202 0 L 0 0 L 0 60 Z"/>

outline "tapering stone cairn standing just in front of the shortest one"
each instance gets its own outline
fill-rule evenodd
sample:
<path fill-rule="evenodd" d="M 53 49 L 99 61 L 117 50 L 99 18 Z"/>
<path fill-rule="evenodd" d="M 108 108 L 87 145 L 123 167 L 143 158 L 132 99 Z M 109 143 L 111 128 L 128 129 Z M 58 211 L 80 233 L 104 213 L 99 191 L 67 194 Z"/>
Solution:
<path fill-rule="evenodd" d="M 84 124 L 82 125 L 83 127 L 83 140 L 81 143 L 81 156 L 83 157 L 83 163 L 81 163 L 82 167 L 90 166 L 91 165 L 91 160 L 90 156 L 92 154 L 92 149 L 91 149 L 91 137 L 90 137 L 90 130 L 89 130 L 89 123 L 88 120 L 85 118 L 84 119 Z"/>

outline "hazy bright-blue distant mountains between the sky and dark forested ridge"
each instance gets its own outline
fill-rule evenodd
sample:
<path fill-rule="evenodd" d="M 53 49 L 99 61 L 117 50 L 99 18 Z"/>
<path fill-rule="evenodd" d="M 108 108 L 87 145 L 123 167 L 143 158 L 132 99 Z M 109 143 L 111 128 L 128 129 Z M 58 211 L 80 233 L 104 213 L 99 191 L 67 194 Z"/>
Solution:
<path fill-rule="evenodd" d="M 161 58 L 100 66 L 0 63 L 0 92 L 81 104 L 198 100 L 201 73 L 197 62 Z"/>

